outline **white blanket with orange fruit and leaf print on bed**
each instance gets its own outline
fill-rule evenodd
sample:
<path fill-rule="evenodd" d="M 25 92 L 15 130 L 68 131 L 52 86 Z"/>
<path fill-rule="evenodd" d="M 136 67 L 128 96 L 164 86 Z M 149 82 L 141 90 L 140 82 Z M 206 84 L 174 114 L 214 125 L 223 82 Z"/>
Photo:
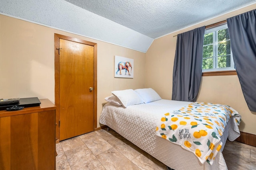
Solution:
<path fill-rule="evenodd" d="M 230 118 L 239 125 L 241 116 L 232 107 L 196 102 L 162 115 L 156 135 L 193 152 L 202 164 L 212 165 Z"/>

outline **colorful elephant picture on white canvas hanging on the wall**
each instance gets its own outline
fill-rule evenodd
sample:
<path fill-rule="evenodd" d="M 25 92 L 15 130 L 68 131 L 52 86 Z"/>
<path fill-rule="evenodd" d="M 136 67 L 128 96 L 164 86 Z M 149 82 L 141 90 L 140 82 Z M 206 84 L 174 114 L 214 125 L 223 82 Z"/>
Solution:
<path fill-rule="evenodd" d="M 114 77 L 133 78 L 133 72 L 134 72 L 133 59 L 115 55 L 114 67 L 115 67 Z"/>

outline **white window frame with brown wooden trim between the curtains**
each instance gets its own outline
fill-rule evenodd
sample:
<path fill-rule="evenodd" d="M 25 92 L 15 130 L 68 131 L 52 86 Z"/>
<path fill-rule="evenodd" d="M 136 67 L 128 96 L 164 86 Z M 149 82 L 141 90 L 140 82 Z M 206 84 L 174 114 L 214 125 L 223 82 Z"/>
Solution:
<path fill-rule="evenodd" d="M 226 28 L 228 28 L 226 20 L 220 21 L 218 23 L 214 23 L 212 25 L 206 26 L 206 30 L 205 30 L 204 34 L 214 32 L 214 35 L 215 35 L 216 31 L 218 31 L 220 29 L 226 29 Z M 216 48 L 216 46 L 218 46 L 218 40 L 216 38 L 216 35 L 214 36 L 214 41 L 215 41 L 215 42 L 213 42 L 213 44 L 215 43 L 214 48 L 216 50 L 218 50 L 218 48 Z M 216 54 L 216 53 L 218 53 L 218 51 L 214 51 L 214 53 Z M 214 55 L 214 56 L 216 56 L 216 55 Z M 214 64 L 216 64 L 217 63 L 216 60 L 218 58 L 214 58 L 214 59 L 215 59 Z M 215 67 L 216 67 L 216 65 L 215 65 Z M 233 55 L 232 55 L 231 49 L 230 49 L 230 67 L 202 69 L 202 76 L 214 76 L 214 75 L 237 75 L 236 69 L 234 68 L 234 60 L 233 60 Z"/>

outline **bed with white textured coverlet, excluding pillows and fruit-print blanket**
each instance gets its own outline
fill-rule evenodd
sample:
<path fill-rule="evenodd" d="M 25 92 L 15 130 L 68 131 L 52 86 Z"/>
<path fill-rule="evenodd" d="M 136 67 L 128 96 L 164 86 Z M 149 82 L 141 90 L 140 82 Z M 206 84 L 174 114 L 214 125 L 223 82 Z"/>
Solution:
<path fill-rule="evenodd" d="M 208 163 L 201 164 L 192 152 L 156 136 L 155 129 L 161 115 L 188 104 L 191 102 L 162 99 L 124 108 L 108 103 L 103 107 L 100 123 L 107 125 L 140 149 L 175 170 L 226 170 L 227 166 L 222 152 L 218 152 L 212 166 Z M 227 138 L 234 141 L 239 135 L 237 124 L 231 118 L 221 137 L 223 146 Z"/>

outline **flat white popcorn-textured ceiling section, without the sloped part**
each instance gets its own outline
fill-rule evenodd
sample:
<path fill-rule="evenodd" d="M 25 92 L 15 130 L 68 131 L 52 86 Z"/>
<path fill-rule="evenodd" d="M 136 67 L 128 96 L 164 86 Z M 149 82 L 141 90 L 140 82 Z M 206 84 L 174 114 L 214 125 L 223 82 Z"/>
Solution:
<path fill-rule="evenodd" d="M 66 1 L 154 39 L 256 2 L 256 0 Z"/>

